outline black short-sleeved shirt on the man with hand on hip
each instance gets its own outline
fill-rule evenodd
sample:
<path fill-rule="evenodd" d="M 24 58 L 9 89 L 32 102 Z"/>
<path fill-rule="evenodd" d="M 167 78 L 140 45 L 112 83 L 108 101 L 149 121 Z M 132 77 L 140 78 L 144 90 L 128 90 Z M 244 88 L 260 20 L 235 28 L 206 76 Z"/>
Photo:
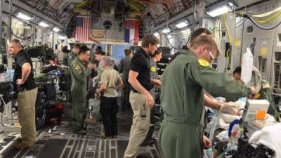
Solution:
<path fill-rule="evenodd" d="M 31 66 L 31 72 L 30 75 L 27 77 L 27 80 L 25 81 L 24 84 L 18 86 L 17 79 L 22 79 L 22 65 L 25 64 L 26 62 L 30 63 Z M 24 50 L 20 50 L 18 52 L 18 55 L 15 56 L 15 74 L 13 76 L 13 84 L 15 86 L 15 91 L 29 91 L 33 88 L 36 88 L 36 84 L 34 82 L 34 73 L 33 73 L 33 67 L 32 67 L 32 60 L 30 59 L 30 56 L 27 55 L 27 52 Z"/>

